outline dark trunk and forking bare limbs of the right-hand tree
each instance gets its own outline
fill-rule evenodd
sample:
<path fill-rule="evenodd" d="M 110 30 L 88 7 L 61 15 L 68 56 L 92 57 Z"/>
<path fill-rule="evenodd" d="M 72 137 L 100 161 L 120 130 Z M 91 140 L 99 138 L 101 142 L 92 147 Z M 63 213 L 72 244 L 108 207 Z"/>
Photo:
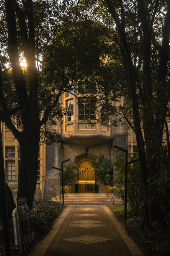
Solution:
<path fill-rule="evenodd" d="M 166 91 L 166 72 L 168 62 L 168 50 L 169 50 L 169 29 L 170 29 L 170 2 L 167 1 L 167 14 L 163 27 L 163 43 L 162 51 L 160 53 L 159 74 L 158 82 L 161 86 L 157 90 L 157 102 L 159 107 L 157 112 L 154 112 L 153 108 L 153 94 L 152 94 L 152 76 L 151 76 L 151 36 L 152 26 L 156 11 L 158 9 L 158 3 L 154 6 L 154 13 L 150 17 L 147 13 L 147 6 L 145 1 L 137 1 L 136 6 L 138 9 L 138 17 L 141 23 L 141 30 L 143 38 L 142 43 L 142 62 L 143 62 L 143 77 L 141 81 L 138 79 L 137 69 L 133 64 L 130 45 L 126 38 L 125 32 L 125 15 L 123 2 L 120 1 L 121 17 L 118 15 L 117 6 L 113 0 L 106 0 L 109 11 L 116 23 L 119 31 L 120 40 L 122 43 L 122 55 L 124 56 L 124 65 L 127 71 L 127 76 L 130 81 L 131 101 L 133 108 L 134 128 L 136 133 L 136 140 L 138 146 L 138 154 L 141 164 L 141 172 L 143 185 L 145 189 L 145 217 L 143 227 L 146 229 L 151 228 L 152 224 L 160 220 L 161 210 L 158 207 L 158 192 L 154 186 L 154 179 L 159 178 L 160 162 L 161 162 L 161 148 L 162 148 L 162 136 L 163 128 L 167 111 L 167 91 Z M 136 29 L 136 28 L 134 28 Z M 136 42 L 137 43 L 137 42 Z M 143 86 L 143 90 L 141 87 Z M 141 134 L 140 117 L 139 117 L 139 103 L 137 97 L 137 91 L 140 93 L 141 103 L 143 107 L 143 128 L 145 133 L 145 144 Z M 149 178 L 149 180 L 148 180 Z"/>

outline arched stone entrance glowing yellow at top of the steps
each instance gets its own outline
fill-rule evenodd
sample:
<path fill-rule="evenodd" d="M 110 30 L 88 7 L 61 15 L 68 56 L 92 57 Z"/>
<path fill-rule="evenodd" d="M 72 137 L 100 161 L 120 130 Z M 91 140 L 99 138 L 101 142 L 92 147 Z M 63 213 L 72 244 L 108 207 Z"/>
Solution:
<path fill-rule="evenodd" d="M 75 193 L 99 193 L 98 185 L 96 184 L 95 170 L 92 167 L 92 162 L 97 156 L 84 153 L 75 157 L 77 163 L 77 184 L 75 184 Z"/>

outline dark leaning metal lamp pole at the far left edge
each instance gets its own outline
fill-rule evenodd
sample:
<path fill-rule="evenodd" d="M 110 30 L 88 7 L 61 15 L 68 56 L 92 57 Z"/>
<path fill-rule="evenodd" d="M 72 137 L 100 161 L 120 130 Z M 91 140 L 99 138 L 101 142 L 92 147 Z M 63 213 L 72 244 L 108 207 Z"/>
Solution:
<path fill-rule="evenodd" d="M 1 193 L 1 211 L 2 211 L 2 218 L 3 218 L 3 230 L 4 230 L 4 238 L 5 238 L 5 255 L 11 256 L 1 123 L 0 123 L 0 193 Z"/>

